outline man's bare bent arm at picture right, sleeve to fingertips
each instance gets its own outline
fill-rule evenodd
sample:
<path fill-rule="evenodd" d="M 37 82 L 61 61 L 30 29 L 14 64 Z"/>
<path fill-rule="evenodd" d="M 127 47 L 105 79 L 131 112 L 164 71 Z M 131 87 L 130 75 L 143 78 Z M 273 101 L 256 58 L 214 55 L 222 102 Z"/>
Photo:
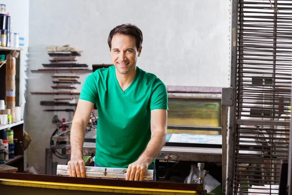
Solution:
<path fill-rule="evenodd" d="M 167 110 L 152 110 L 151 139 L 139 159 L 128 166 L 126 180 L 143 180 L 147 167 L 164 147 L 166 134 Z"/>

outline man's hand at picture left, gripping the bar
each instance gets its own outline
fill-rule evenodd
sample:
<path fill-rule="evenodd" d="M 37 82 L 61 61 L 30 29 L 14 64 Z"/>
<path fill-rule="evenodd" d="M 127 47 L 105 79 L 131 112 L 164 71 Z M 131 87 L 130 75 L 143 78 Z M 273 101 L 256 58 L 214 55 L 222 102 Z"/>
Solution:
<path fill-rule="evenodd" d="M 82 157 L 73 157 L 68 162 L 70 176 L 85 177 L 85 162 Z"/>

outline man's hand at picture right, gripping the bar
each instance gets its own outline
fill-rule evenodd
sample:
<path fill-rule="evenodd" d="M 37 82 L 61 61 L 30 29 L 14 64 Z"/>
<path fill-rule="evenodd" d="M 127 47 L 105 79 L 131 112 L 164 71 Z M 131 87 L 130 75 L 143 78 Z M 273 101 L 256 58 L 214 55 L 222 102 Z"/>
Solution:
<path fill-rule="evenodd" d="M 143 181 L 143 176 L 148 168 L 148 164 L 141 161 L 136 161 L 129 164 L 126 174 L 126 180 L 130 181 Z"/>

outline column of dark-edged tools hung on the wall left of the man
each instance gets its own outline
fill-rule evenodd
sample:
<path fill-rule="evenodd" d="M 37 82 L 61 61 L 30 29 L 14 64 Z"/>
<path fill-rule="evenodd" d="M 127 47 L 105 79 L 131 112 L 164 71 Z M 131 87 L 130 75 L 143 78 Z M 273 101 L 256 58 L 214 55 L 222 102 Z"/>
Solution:
<path fill-rule="evenodd" d="M 64 97 L 55 97 L 53 100 L 41 100 L 42 106 L 76 106 L 76 100 L 72 96 L 78 96 L 80 92 L 76 92 L 76 84 L 81 84 L 80 73 L 91 73 L 87 64 L 80 64 L 77 57 L 81 56 L 82 51 L 78 51 L 76 47 L 51 46 L 47 47 L 50 57 L 49 63 L 43 63 L 43 68 L 32 70 L 32 73 L 50 73 L 52 78 L 52 86 L 48 91 L 30 92 L 33 95 L 60 95 Z M 71 97 L 70 97 L 71 96 Z M 52 111 L 52 110 L 44 110 Z"/>

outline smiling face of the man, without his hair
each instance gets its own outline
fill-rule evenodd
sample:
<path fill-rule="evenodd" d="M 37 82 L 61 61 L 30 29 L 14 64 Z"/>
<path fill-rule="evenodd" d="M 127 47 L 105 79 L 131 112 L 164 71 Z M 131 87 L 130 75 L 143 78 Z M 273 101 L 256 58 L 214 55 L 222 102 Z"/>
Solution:
<path fill-rule="evenodd" d="M 116 34 L 111 39 L 111 60 L 122 75 L 128 74 L 136 67 L 141 50 L 142 47 L 139 48 L 139 51 L 137 50 L 136 39 L 132 36 Z"/>

